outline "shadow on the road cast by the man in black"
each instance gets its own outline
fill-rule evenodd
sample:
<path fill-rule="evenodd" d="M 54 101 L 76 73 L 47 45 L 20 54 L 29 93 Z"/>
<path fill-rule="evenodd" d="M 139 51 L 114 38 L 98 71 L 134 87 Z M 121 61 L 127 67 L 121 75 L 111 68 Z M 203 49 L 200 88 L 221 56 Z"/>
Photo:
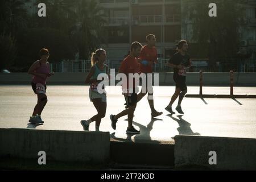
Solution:
<path fill-rule="evenodd" d="M 179 124 L 177 131 L 179 131 L 180 135 L 200 135 L 200 133 L 194 133 L 192 131 L 191 123 L 185 121 L 185 119 L 182 118 L 183 115 L 177 115 L 178 118 L 173 117 L 172 114 L 168 114 L 167 116 Z"/>

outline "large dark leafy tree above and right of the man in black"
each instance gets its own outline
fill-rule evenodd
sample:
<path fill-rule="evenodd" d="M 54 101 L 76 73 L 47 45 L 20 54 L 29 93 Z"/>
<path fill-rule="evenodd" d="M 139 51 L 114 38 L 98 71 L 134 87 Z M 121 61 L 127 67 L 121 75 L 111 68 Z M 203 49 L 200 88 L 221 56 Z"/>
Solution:
<path fill-rule="evenodd" d="M 210 0 L 185 1 L 183 16 L 192 20 L 192 41 L 197 43 L 197 53 L 208 55 L 210 67 L 214 67 L 217 60 L 230 60 L 237 55 L 243 8 L 239 0 L 216 0 L 217 17 L 210 17 L 210 3 Z"/>

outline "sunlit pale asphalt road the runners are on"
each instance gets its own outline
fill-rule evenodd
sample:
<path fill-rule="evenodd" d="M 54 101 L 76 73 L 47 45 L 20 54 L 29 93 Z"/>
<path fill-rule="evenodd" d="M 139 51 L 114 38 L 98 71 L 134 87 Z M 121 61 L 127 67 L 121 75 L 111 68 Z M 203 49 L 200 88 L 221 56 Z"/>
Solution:
<path fill-rule="evenodd" d="M 89 119 L 97 113 L 88 96 L 89 86 L 47 86 L 48 104 L 42 119 L 43 125 L 31 125 L 28 119 L 36 104 L 36 96 L 28 85 L 0 85 L 0 127 L 30 128 L 43 130 L 82 131 L 81 119 Z M 184 98 L 184 115 L 170 115 L 164 107 L 170 102 L 174 86 L 154 87 L 155 108 L 163 111 L 157 119 L 151 120 L 151 111 L 146 97 L 135 110 L 134 125 L 141 130 L 139 135 L 126 135 L 127 117 L 117 123 L 117 130 L 111 127 L 110 114 L 125 109 L 125 100 L 119 86 L 107 88 L 108 107 L 102 119 L 100 131 L 109 131 L 117 140 L 169 141 L 175 135 L 204 135 L 215 137 L 256 138 L 256 99 L 253 98 Z M 188 87 L 188 94 L 199 93 L 196 86 Z M 229 94 L 228 87 L 204 87 L 204 94 Z M 234 88 L 234 94 L 256 94 L 255 87 Z M 177 101 L 174 104 L 176 107 Z M 95 122 L 90 130 L 95 129 Z"/>

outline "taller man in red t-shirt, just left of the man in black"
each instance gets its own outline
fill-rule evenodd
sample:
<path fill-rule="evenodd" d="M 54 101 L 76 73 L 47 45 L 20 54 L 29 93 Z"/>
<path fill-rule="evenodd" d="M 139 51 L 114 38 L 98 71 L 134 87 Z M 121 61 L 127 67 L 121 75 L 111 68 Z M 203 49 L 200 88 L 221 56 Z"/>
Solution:
<path fill-rule="evenodd" d="M 148 73 L 152 74 L 152 66 L 158 63 L 158 53 L 155 48 L 155 35 L 149 34 L 146 37 L 147 45 L 142 48 L 141 56 L 139 57 L 139 69 L 142 73 L 146 74 L 146 93 L 139 93 L 138 94 L 138 102 L 148 93 L 148 87 L 151 87 L 153 91 L 152 85 L 147 85 L 147 76 Z M 143 86 L 143 84 L 142 84 Z M 142 89 L 143 90 L 143 89 Z M 151 97 L 151 98 L 150 98 Z M 151 117 L 157 117 L 158 115 L 163 114 L 163 112 L 158 112 L 155 110 L 154 107 L 154 100 L 153 100 L 153 93 L 148 93 L 147 97 L 148 104 L 150 105 L 151 109 Z"/>

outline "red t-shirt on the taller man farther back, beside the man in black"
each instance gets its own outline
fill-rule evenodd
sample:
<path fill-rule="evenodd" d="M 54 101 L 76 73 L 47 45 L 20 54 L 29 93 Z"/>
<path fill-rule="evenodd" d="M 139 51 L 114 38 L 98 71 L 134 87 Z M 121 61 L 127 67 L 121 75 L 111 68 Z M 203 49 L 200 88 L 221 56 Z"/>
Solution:
<path fill-rule="evenodd" d="M 144 46 L 141 50 L 140 60 L 146 60 L 154 63 L 158 59 L 158 52 L 155 47 Z M 139 69 L 142 73 L 152 73 L 152 65 L 143 65 L 139 63 Z"/>

